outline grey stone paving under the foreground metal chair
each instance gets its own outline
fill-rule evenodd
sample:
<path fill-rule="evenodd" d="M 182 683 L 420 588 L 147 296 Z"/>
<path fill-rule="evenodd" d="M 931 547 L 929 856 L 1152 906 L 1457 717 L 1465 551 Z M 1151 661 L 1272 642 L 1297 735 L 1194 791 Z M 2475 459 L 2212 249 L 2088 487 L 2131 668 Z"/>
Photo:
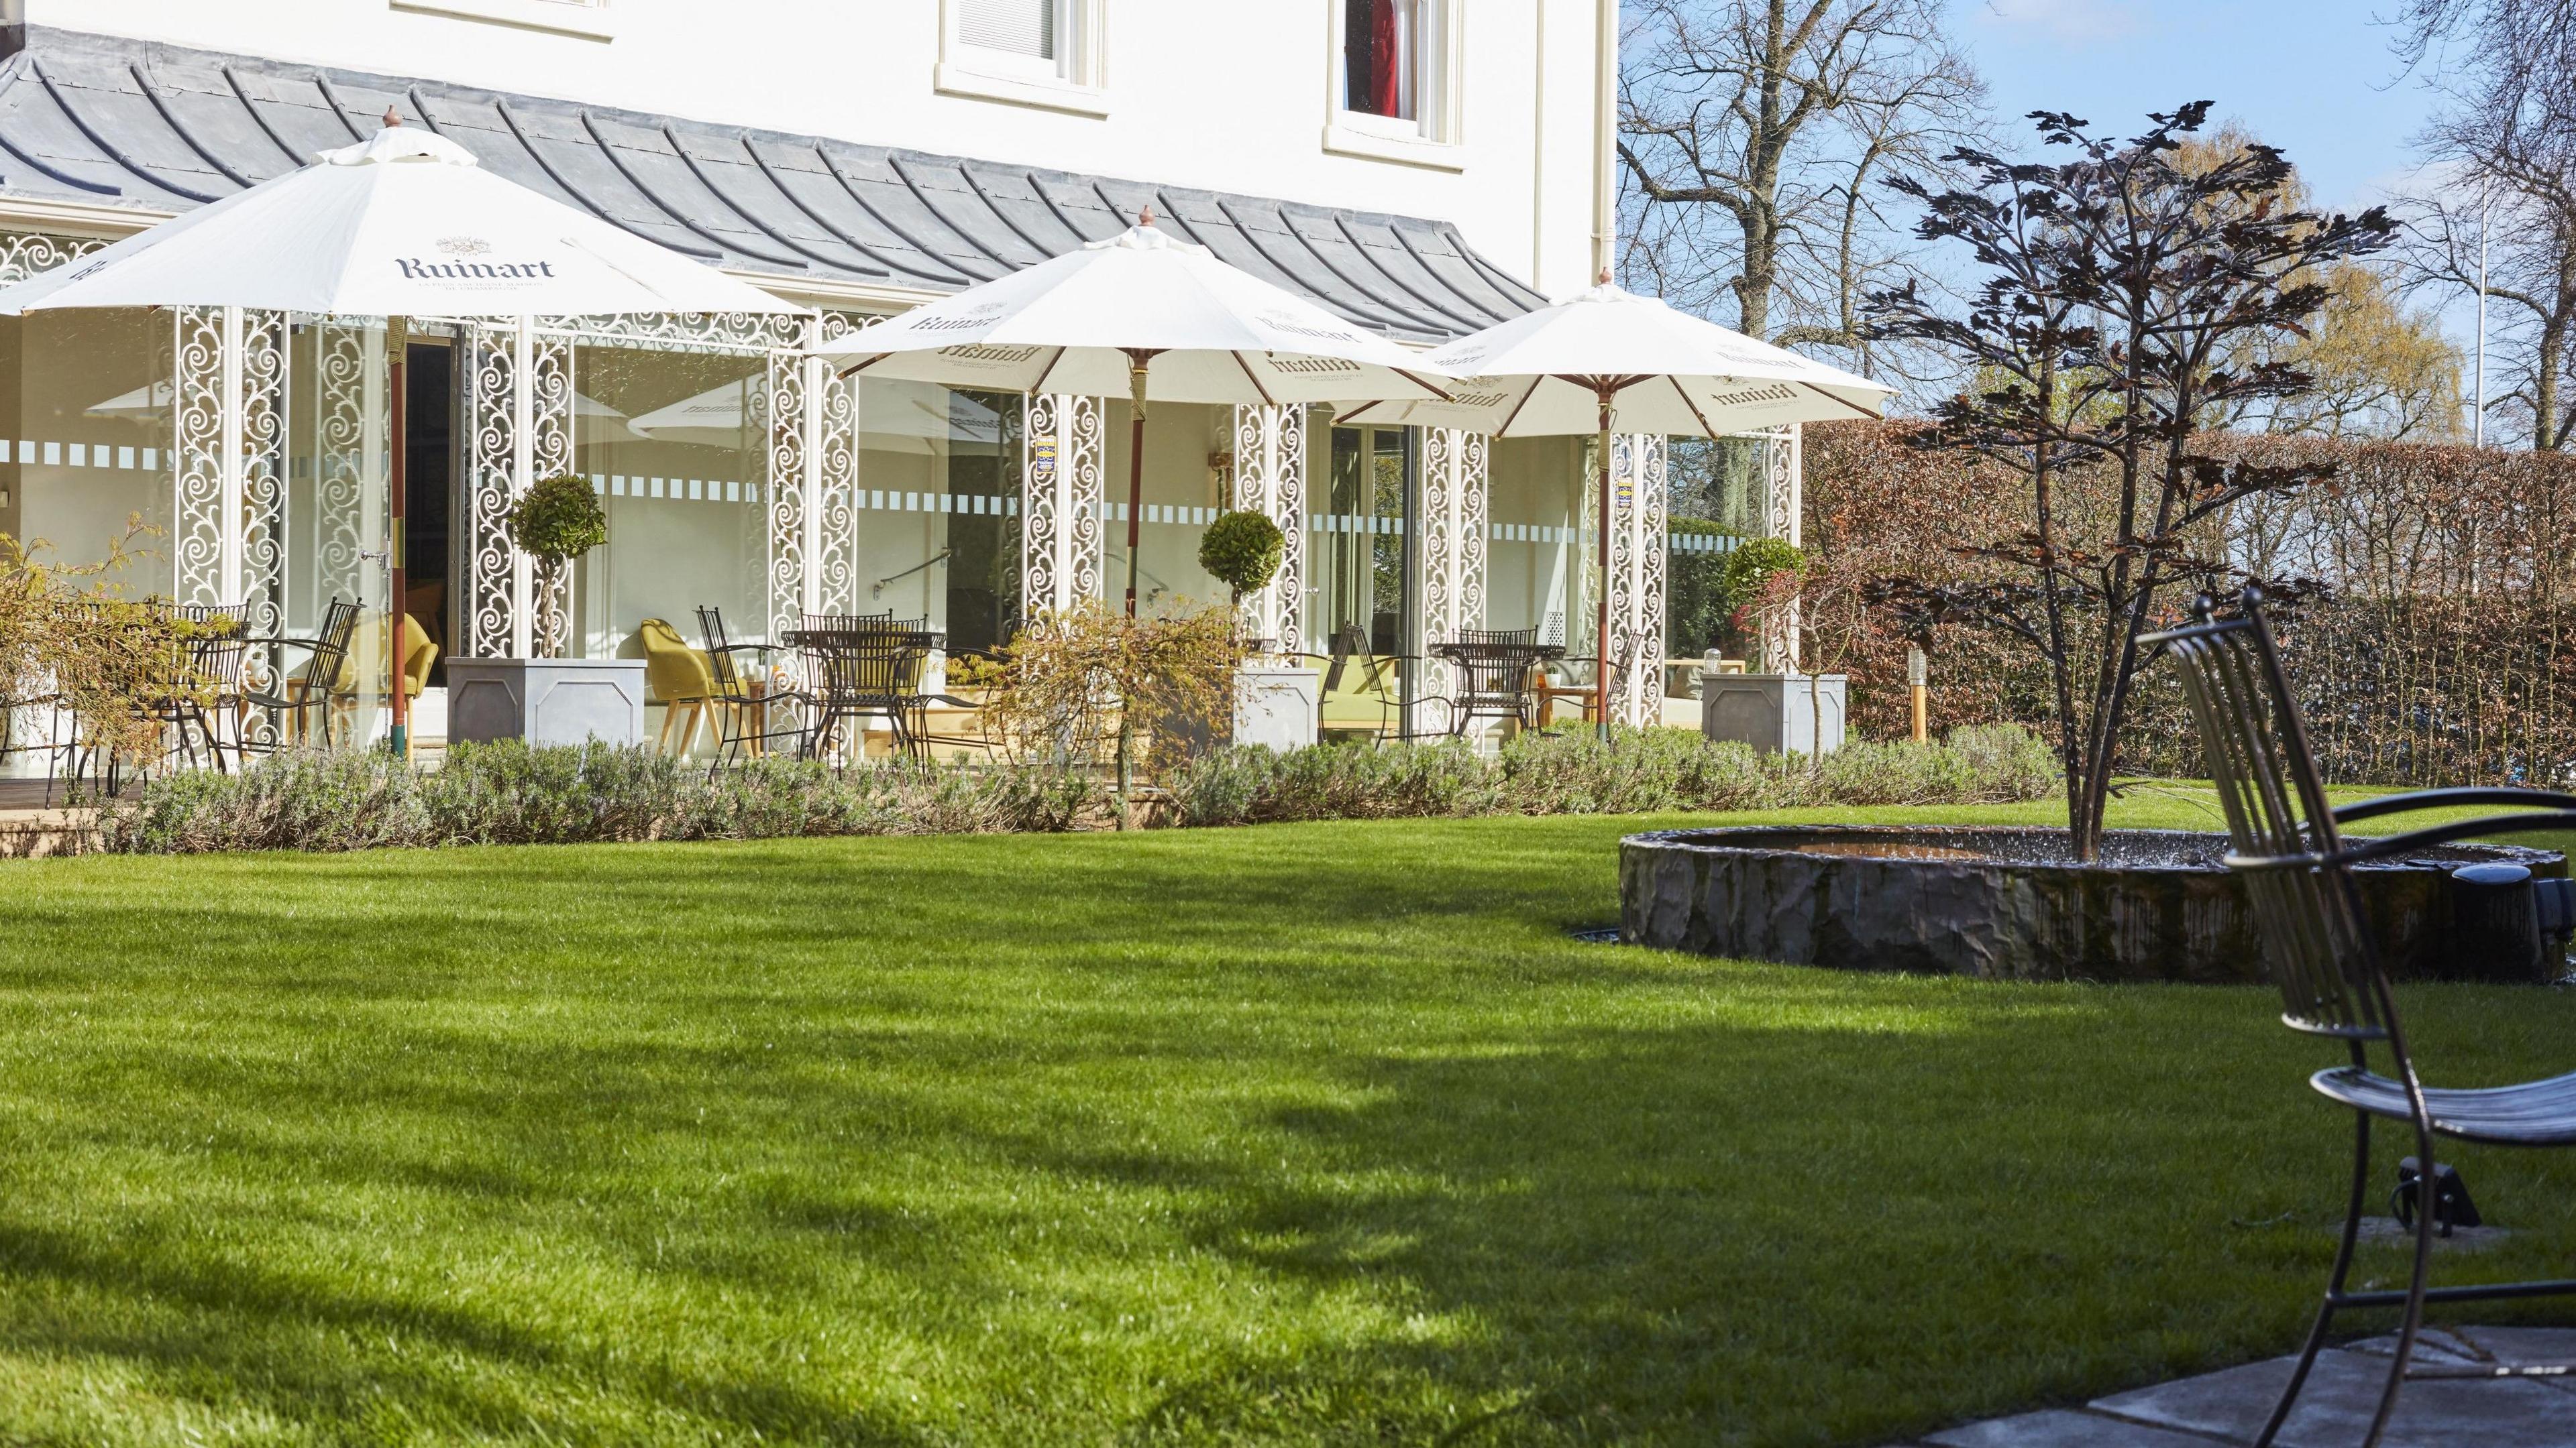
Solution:
<path fill-rule="evenodd" d="M 2251 1440 L 2298 1358 L 2272 1358 L 2154 1389 L 2097 1399 L 2097 1412 L 2138 1422 Z M 2282 1425 L 2277 1448 L 2347 1448 L 2360 1443 L 2378 1407 L 2388 1360 L 2365 1353 L 2318 1353 L 2308 1391 Z M 2406 1384 L 2383 1448 L 2576 1448 L 2576 1394 L 2527 1378 Z"/>

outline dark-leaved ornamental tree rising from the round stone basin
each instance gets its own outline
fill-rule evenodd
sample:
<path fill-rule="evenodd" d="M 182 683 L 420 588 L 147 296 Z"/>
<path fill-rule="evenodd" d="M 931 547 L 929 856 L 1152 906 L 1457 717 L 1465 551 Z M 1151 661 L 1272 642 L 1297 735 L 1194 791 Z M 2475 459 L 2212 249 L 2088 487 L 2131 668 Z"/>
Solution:
<path fill-rule="evenodd" d="M 2385 247 L 2378 206 L 2324 216 L 2295 204 L 2275 147 L 2190 147 L 2210 113 L 2151 113 L 2125 142 L 2035 111 L 2040 165 L 1960 147 L 1971 186 L 1891 186 L 1924 206 L 1917 234 L 1984 271 L 1963 309 L 1917 283 L 1870 296 L 1873 332 L 1945 350 L 1971 384 L 1935 407 L 1919 446 L 1963 448 L 2020 477 L 2027 528 L 1960 551 L 2004 564 L 1973 582 L 1886 580 L 1909 629 L 2002 629 L 2048 660 L 2066 824 L 2076 858 L 2102 845 L 2120 721 L 2146 660 L 2138 636 L 2169 595 L 2244 577 L 2213 546 L 2241 500 L 2295 490 L 2321 466 L 2259 466 L 2197 446 L 2213 420 L 2311 386 L 2282 361 L 2326 304 L 2336 263 Z"/>

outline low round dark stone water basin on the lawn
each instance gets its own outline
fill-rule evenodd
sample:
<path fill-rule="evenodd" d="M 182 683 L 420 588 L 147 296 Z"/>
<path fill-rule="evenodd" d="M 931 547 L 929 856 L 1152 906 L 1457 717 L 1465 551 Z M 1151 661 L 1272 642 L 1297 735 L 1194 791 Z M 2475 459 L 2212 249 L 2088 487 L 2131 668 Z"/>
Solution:
<path fill-rule="evenodd" d="M 2226 835 L 2112 830 L 2076 863 L 2063 830 L 1739 827 L 1620 840 L 1620 940 L 1860 971 L 1991 979 L 2259 982 L 2262 943 Z M 2566 855 L 2439 845 L 2362 866 L 2362 907 L 2398 979 L 2553 979 L 2455 928 L 2450 871 L 2566 876 Z"/>

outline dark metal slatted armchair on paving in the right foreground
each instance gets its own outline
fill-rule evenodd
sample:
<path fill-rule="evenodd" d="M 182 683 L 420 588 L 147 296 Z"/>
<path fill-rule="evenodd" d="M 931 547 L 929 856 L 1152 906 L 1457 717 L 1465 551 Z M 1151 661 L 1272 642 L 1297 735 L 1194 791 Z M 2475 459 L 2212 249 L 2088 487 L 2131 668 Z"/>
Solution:
<path fill-rule="evenodd" d="M 2494 1147 L 2576 1147 L 2576 1072 L 2488 1090 L 2424 1087 L 2416 1080 L 2388 974 L 2362 928 L 2352 868 L 2478 835 L 2571 830 L 2576 827 L 2576 796 L 2527 788 L 2427 788 L 2334 809 L 2316 776 L 2308 732 L 2298 719 L 2272 629 L 2264 624 L 2259 590 L 2244 590 L 2233 618 L 2213 618 L 2213 605 L 2202 598 L 2190 626 L 2141 642 L 2161 647 L 2182 667 L 2182 685 L 2200 727 L 2210 778 L 2218 783 L 2218 799 L 2228 817 L 2228 840 L 2233 843 L 2228 868 L 2246 876 L 2254 897 L 2264 956 L 2285 1005 L 2282 1023 L 2308 1036 L 2342 1041 L 2352 1054 L 2352 1064 L 2308 1077 L 2308 1085 L 2326 1100 L 2352 1108 L 2352 1196 L 2344 1206 L 2344 1237 L 2334 1252 L 2316 1324 L 2308 1329 L 2308 1342 L 2300 1348 L 2298 1368 L 2290 1373 L 2272 1420 L 2254 1440 L 2257 1448 L 2267 1448 L 2287 1422 L 2339 1311 L 2403 1309 L 2398 1350 L 2362 1448 L 2380 1440 L 2406 1378 L 2566 1373 L 2566 1366 L 2499 1368 L 2491 1363 L 2409 1368 L 2427 1301 L 2576 1293 L 2576 1281 L 2450 1288 L 2434 1288 L 2424 1281 L 2434 1239 L 2434 1136 Z M 2354 819 L 2458 804 L 2540 804 L 2550 809 L 2463 819 L 2352 843 L 2339 832 Z M 2385 1054 L 2391 1074 L 2370 1069 L 2372 1043 Z M 2414 1134 L 2416 1159 L 2424 1162 L 2416 1188 L 2421 1198 L 2416 1201 L 2414 1273 L 2406 1291 L 2349 1291 L 2344 1286 L 2367 1198 L 2372 1116 L 2406 1123 Z"/>

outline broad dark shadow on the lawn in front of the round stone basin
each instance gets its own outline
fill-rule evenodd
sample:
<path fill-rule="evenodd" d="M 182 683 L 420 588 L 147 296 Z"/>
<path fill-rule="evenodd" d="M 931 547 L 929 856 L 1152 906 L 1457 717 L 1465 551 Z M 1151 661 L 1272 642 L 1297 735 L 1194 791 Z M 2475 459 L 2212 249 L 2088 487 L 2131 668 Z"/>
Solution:
<path fill-rule="evenodd" d="M 1455 1440 L 1873 1443 L 2295 1337 L 2339 1141 L 2264 1067 L 2280 1090 L 2254 1110 L 2210 1100 L 2226 1054 L 2269 1064 L 2244 1051 L 2262 1023 L 2213 1025 L 2195 1062 L 2099 1013 L 1986 1002 L 1875 1031 L 1870 987 L 1798 995 L 1842 997 L 1850 1025 L 1378 1059 L 1360 1105 L 1270 1116 L 1319 1157 L 1293 1180 L 1020 1149 L 1198 1188 L 1224 1203 L 1193 1221 L 1203 1250 L 1430 1324 L 1182 1381 L 1151 1420 L 1172 1440 L 1316 1433 L 1283 1415 L 1419 1378 L 1486 1404 Z"/>

